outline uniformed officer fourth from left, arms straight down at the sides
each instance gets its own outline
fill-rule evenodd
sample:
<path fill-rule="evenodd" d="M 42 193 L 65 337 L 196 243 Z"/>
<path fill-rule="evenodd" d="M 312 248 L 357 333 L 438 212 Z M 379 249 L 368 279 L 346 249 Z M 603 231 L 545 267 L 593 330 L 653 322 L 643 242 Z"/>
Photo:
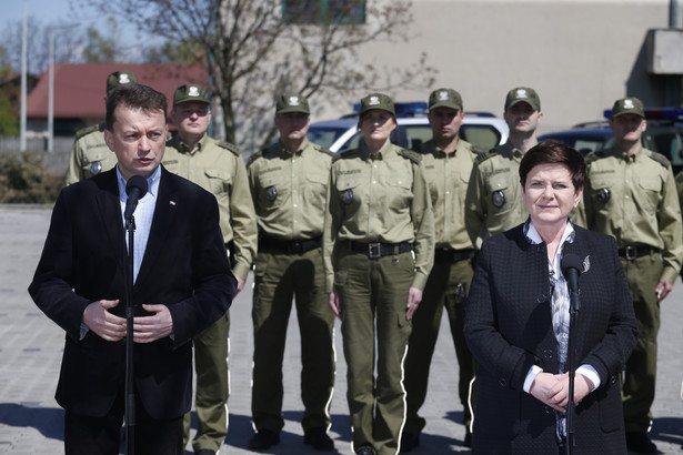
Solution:
<path fill-rule="evenodd" d="M 390 142 L 393 101 L 363 98 L 359 128 L 364 144 L 332 164 L 325 291 L 342 321 L 353 449 L 389 455 L 401 446 L 403 360 L 434 259 L 434 214 L 421 155 Z"/>

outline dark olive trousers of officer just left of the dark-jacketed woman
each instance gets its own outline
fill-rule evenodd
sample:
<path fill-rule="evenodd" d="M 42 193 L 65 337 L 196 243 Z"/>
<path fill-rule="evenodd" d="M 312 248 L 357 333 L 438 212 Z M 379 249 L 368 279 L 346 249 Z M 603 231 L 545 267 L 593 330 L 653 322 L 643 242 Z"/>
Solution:
<path fill-rule="evenodd" d="M 464 408 L 463 423 L 472 422 L 470 388 L 474 378 L 474 357 L 464 336 L 465 301 L 474 270 L 470 260 L 455 263 L 434 262 L 430 273 L 422 303 L 413 315 L 413 332 L 410 335 L 408 356 L 405 358 L 405 391 L 408 392 L 408 422 L 404 433 L 419 435 L 424 428 L 425 419 L 418 415 L 424 404 L 429 383 L 430 365 L 434 346 L 439 337 L 441 315 L 445 307 L 451 326 L 451 337 L 455 345 L 455 355 L 460 368 L 458 393 Z"/>

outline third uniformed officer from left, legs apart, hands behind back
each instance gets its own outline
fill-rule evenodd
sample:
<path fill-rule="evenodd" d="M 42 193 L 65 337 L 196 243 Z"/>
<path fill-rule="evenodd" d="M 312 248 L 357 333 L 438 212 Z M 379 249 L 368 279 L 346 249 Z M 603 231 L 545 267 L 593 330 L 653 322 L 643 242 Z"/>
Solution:
<path fill-rule="evenodd" d="M 323 289 L 321 235 L 332 154 L 307 139 L 310 109 L 305 97 L 278 97 L 274 123 L 280 140 L 248 163 L 260 230 L 252 310 L 251 412 L 257 434 L 249 448 L 263 451 L 280 443 L 282 360 L 294 297 L 301 331 L 303 442 L 331 451 L 334 314 Z"/>

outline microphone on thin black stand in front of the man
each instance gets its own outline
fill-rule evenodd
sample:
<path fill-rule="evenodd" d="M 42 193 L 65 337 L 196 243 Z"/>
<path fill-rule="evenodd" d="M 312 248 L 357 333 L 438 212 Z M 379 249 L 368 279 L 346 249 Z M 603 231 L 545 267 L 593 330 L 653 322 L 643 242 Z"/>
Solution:
<path fill-rule="evenodd" d="M 135 219 L 125 220 L 128 232 L 128 266 L 125 273 L 125 455 L 135 453 L 135 395 L 133 392 L 133 271 Z"/>

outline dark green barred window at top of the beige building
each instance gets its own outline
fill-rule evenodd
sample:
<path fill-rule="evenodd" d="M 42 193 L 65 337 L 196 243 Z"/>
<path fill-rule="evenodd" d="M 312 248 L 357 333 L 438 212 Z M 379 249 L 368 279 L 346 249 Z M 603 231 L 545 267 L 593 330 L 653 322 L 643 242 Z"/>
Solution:
<path fill-rule="evenodd" d="M 365 0 L 282 0 L 287 23 L 364 23 Z"/>

